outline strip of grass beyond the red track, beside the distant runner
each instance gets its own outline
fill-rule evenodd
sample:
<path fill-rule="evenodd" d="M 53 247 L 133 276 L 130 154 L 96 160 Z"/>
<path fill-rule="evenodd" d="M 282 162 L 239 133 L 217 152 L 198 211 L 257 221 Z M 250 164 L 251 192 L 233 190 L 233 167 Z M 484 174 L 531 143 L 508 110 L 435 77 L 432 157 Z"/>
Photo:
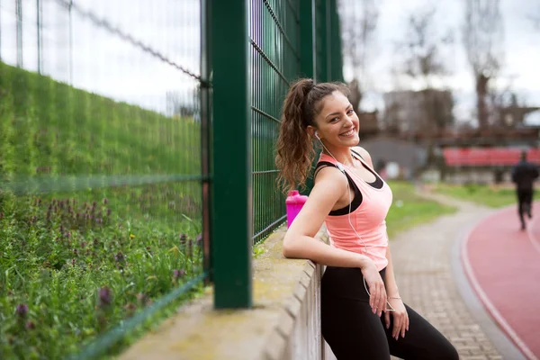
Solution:
<path fill-rule="evenodd" d="M 437 184 L 434 190 L 457 199 L 478 203 L 491 208 L 501 208 L 517 202 L 516 191 L 513 187 L 490 186 L 480 184 L 454 185 Z M 539 195 L 538 191 L 535 196 Z"/>

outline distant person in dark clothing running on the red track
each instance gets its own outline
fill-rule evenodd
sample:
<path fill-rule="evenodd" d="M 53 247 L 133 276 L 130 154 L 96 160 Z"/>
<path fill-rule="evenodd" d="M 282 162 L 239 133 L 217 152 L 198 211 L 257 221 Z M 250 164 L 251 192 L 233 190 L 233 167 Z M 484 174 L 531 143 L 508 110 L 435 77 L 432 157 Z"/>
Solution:
<path fill-rule="evenodd" d="M 521 153 L 521 160 L 512 168 L 512 181 L 518 194 L 518 213 L 521 229 L 525 229 L 525 214 L 531 219 L 534 182 L 538 178 L 538 166 L 527 161 L 527 152 Z"/>

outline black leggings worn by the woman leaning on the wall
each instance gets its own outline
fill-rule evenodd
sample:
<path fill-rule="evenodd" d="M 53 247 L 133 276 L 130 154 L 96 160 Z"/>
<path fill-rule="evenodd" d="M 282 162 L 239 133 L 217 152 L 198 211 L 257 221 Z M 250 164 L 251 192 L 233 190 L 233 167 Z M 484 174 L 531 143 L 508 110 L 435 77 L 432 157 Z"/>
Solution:
<path fill-rule="evenodd" d="M 384 269 L 381 271 L 384 280 Z M 455 347 L 416 311 L 405 305 L 409 330 L 405 338 L 392 338 L 369 305 L 359 268 L 328 266 L 321 281 L 322 336 L 338 360 L 389 360 L 390 356 L 415 360 L 458 360 Z M 391 314 L 392 319 L 392 314 Z"/>

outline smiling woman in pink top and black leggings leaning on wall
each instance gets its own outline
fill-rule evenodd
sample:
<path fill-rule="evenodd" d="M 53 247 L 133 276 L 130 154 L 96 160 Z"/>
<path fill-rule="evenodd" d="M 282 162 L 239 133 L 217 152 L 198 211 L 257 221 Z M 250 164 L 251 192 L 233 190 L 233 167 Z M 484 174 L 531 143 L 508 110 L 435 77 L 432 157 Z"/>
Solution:
<path fill-rule="evenodd" d="M 284 102 L 277 166 L 284 190 L 305 184 L 322 146 L 314 186 L 284 237 L 284 257 L 327 266 L 322 335 L 339 360 L 458 359 L 448 340 L 401 301 L 386 233 L 392 191 L 359 142 L 359 121 L 337 83 L 294 83 Z M 315 239 L 323 222 L 330 246 Z"/>

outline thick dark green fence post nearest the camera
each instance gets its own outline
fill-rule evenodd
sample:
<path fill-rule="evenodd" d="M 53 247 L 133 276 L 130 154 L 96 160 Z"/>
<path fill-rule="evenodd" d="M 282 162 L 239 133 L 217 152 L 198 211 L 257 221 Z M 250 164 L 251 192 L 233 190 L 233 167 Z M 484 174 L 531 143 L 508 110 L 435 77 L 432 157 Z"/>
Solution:
<path fill-rule="evenodd" d="M 211 6 L 214 307 L 252 306 L 248 0 Z"/>

